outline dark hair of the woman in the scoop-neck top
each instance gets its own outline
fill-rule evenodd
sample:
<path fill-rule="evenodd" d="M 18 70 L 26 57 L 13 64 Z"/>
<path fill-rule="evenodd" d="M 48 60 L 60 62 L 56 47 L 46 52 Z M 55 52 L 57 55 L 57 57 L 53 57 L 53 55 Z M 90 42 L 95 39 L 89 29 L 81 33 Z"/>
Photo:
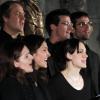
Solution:
<path fill-rule="evenodd" d="M 55 44 L 53 57 L 60 66 L 59 70 L 64 70 L 66 68 L 66 62 L 69 61 L 69 59 L 66 58 L 66 53 L 73 54 L 76 49 L 77 52 L 79 51 L 79 42 L 83 43 L 83 41 L 79 39 L 71 38 Z"/>

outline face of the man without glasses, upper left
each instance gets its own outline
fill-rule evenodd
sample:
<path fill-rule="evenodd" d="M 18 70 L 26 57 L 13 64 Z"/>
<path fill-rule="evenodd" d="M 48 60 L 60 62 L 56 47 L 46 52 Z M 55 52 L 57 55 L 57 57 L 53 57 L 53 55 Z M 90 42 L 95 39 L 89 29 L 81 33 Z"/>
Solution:
<path fill-rule="evenodd" d="M 14 4 L 10 7 L 9 17 L 4 17 L 5 26 L 14 34 L 23 32 L 25 13 L 21 5 Z"/>

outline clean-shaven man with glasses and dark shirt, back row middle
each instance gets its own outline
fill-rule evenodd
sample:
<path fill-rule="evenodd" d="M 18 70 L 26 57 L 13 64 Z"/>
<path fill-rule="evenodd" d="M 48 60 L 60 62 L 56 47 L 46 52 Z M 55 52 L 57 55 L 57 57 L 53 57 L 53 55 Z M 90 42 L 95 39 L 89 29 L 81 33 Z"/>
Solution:
<path fill-rule="evenodd" d="M 49 38 L 46 39 L 51 57 L 48 59 L 48 73 L 52 77 L 58 71 L 58 62 L 53 60 L 55 44 L 70 38 L 72 23 L 70 12 L 66 9 L 56 9 L 46 15 L 45 27 Z M 59 47 L 58 47 L 59 48 Z"/>

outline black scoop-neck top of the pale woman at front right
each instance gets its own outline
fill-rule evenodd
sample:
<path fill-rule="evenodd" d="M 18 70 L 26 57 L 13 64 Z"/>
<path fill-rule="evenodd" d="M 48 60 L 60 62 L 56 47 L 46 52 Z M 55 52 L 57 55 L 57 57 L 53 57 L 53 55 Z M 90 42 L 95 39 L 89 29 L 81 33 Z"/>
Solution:
<path fill-rule="evenodd" d="M 89 100 L 91 98 L 90 80 L 86 76 L 83 79 L 83 89 L 76 90 L 61 73 L 54 76 L 48 85 L 53 100 Z"/>

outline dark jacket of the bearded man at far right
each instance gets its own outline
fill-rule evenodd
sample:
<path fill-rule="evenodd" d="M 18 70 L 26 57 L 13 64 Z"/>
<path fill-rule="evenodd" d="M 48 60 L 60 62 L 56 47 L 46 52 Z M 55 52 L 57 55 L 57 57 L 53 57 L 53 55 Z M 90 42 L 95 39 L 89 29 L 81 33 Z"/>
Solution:
<path fill-rule="evenodd" d="M 100 58 L 99 55 L 92 51 L 87 45 L 86 49 L 88 54 L 86 69 L 92 80 L 92 88 L 94 89 L 92 94 L 96 96 L 100 94 Z"/>

